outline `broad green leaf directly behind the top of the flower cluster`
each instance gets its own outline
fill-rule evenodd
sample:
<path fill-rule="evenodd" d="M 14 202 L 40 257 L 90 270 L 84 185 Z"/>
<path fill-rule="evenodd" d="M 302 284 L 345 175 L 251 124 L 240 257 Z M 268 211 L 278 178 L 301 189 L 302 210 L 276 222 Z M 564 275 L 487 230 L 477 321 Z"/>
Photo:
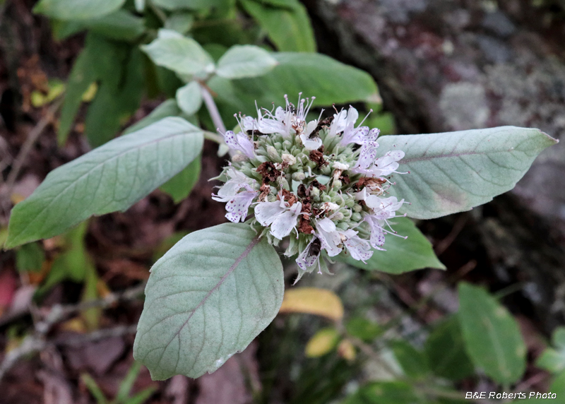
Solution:
<path fill-rule="evenodd" d="M 377 93 L 368 73 L 331 57 L 292 52 L 275 53 L 273 57 L 278 65 L 264 76 L 231 81 L 215 76 L 208 81 L 227 117 L 234 111 L 256 114 L 255 101 L 259 107 L 270 108 L 273 102 L 285 105 L 285 94 L 291 101 L 301 92 L 305 97 L 315 96 L 320 106 L 366 100 Z"/>

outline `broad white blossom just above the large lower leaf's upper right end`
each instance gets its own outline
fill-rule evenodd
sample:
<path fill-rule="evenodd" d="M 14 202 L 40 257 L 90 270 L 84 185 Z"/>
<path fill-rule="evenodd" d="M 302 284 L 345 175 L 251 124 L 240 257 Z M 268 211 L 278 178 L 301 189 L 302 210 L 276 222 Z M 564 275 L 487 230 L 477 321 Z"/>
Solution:
<path fill-rule="evenodd" d="M 280 201 L 259 202 L 255 206 L 255 218 L 265 227 L 270 225 L 270 234 L 283 239 L 296 227 L 301 210 L 302 203 L 297 202 L 288 207 L 280 195 Z"/>

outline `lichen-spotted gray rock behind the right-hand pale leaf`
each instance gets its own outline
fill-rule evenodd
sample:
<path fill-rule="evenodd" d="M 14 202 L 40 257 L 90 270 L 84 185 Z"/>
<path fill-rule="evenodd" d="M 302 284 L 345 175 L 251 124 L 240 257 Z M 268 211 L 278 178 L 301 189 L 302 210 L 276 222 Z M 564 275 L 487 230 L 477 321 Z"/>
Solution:
<path fill-rule="evenodd" d="M 307 6 L 318 18 L 321 51 L 374 76 L 400 133 L 513 125 L 561 139 L 509 195 L 463 215 L 489 257 L 488 271 L 503 285 L 525 285 L 522 295 L 547 332 L 563 323 L 563 21 L 552 23 L 547 9 L 525 0 L 310 0 Z"/>

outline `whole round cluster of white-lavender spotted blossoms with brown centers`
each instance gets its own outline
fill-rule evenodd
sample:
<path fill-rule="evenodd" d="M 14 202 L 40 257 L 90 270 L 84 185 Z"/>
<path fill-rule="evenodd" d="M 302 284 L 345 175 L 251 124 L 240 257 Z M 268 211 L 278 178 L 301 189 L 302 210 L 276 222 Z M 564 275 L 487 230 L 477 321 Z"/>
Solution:
<path fill-rule="evenodd" d="M 377 157 L 379 129 L 355 126 L 353 107 L 307 121 L 315 97 L 299 97 L 296 106 L 285 99 L 274 113 L 239 116 L 241 131 L 224 134 L 232 162 L 213 199 L 226 202 L 232 222 L 246 220 L 252 208 L 251 226 L 261 225 L 271 244 L 292 234 L 285 255 L 297 255 L 297 280 L 315 269 L 328 272 L 324 251 L 367 261 L 383 250 L 385 234 L 395 234 L 388 219 L 405 202 L 386 191 L 403 151 Z"/>

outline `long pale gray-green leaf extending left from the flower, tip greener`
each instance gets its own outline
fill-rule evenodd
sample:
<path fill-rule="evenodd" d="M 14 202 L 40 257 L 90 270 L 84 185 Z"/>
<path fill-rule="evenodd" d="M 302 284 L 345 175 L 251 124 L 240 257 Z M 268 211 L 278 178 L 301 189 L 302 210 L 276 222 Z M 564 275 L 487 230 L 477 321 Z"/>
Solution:
<path fill-rule="evenodd" d="M 201 129 L 166 118 L 58 167 L 12 210 L 6 246 L 56 234 L 89 218 L 126 210 L 200 154 Z"/>

